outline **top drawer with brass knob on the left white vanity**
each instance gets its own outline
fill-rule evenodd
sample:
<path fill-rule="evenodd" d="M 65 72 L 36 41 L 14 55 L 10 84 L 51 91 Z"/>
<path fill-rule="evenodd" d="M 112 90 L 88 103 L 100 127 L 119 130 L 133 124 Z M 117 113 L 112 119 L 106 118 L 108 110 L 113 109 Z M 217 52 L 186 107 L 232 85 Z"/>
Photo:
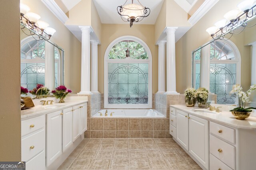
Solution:
<path fill-rule="evenodd" d="M 45 115 L 21 121 L 21 136 L 45 127 Z"/>

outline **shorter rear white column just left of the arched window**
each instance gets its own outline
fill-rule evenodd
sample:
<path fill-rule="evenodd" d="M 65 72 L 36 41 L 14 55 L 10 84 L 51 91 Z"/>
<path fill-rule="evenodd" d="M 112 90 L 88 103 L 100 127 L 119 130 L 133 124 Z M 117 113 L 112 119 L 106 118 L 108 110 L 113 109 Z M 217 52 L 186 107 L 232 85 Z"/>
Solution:
<path fill-rule="evenodd" d="M 91 41 L 91 59 L 92 59 L 92 69 L 91 69 L 91 91 L 92 93 L 98 92 L 98 41 Z"/>

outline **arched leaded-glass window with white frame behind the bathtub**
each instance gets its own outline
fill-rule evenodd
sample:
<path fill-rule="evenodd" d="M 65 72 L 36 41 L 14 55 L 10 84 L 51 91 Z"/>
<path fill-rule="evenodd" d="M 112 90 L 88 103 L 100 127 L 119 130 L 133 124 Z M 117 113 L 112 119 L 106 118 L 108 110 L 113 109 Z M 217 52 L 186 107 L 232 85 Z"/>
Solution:
<path fill-rule="evenodd" d="M 104 107 L 152 108 L 152 55 L 137 37 L 115 39 L 104 56 Z"/>

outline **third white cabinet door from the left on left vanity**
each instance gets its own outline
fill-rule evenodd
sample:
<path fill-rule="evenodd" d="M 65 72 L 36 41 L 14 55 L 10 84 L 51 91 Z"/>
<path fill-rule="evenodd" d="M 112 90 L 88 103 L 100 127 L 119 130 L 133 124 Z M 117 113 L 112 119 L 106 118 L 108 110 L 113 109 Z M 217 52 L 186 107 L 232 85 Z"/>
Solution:
<path fill-rule="evenodd" d="M 79 119 L 80 119 L 80 106 L 73 107 L 73 142 L 78 139 L 79 133 Z"/>

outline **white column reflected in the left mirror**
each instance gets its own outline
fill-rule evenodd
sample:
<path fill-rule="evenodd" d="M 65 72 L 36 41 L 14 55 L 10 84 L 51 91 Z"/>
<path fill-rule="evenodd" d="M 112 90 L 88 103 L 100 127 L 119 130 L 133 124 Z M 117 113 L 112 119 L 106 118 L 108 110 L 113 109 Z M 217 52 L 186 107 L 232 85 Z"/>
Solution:
<path fill-rule="evenodd" d="M 45 84 L 48 89 L 55 88 L 55 69 L 54 69 L 54 46 L 45 41 Z"/>

